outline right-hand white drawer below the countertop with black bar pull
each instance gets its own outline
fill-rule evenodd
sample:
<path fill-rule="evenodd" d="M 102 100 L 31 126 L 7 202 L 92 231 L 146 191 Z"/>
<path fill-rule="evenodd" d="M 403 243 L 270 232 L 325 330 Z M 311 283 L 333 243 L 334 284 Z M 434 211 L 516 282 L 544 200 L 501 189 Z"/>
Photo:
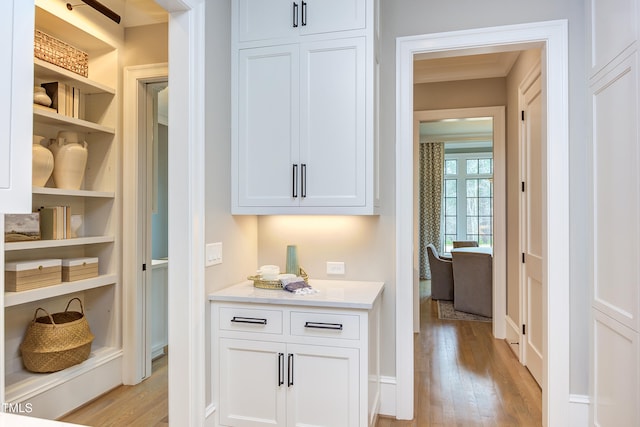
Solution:
<path fill-rule="evenodd" d="M 360 317 L 292 311 L 291 335 L 357 340 L 360 339 Z"/>

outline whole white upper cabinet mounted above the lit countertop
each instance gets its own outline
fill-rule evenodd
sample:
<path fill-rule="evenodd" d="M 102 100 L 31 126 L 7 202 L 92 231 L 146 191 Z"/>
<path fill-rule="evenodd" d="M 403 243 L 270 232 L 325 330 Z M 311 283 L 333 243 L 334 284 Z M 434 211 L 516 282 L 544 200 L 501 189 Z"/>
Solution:
<path fill-rule="evenodd" d="M 375 214 L 374 1 L 233 4 L 232 213 Z"/>

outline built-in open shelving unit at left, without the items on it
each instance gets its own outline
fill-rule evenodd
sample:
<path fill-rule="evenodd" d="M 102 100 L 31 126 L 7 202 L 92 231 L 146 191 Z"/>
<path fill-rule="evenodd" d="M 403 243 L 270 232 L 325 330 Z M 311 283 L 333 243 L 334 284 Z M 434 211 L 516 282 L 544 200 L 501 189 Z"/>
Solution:
<path fill-rule="evenodd" d="M 34 85 L 57 81 L 79 88 L 84 106 L 81 118 L 34 107 L 33 133 L 52 139 L 61 130 L 79 132 L 87 141 L 89 155 L 81 189 L 55 188 L 51 178 L 44 187 L 33 187 L 33 208 L 69 206 L 73 214 L 83 215 L 83 225 L 77 238 L 6 243 L 5 261 L 98 257 L 99 274 L 86 280 L 4 293 L 4 396 L 8 403 L 31 403 L 32 416 L 57 418 L 121 383 L 122 291 L 117 250 L 120 242 L 116 237 L 120 230 L 119 107 L 114 89 L 118 53 L 117 47 L 38 6 L 36 28 L 89 54 L 88 78 L 34 58 Z M 26 371 L 19 346 L 36 309 L 63 311 L 73 297 L 82 300 L 95 336 L 89 359 L 54 373 Z M 77 304 L 70 309 L 77 310 Z M 64 393 L 71 388 L 82 392 Z"/>

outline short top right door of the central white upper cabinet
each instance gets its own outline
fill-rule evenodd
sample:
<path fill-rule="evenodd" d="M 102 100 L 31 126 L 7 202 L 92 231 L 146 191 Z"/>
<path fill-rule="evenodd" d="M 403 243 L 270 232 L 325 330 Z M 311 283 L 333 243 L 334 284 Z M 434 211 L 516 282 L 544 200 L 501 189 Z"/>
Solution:
<path fill-rule="evenodd" d="M 365 27 L 366 0 L 300 1 L 300 35 Z"/>

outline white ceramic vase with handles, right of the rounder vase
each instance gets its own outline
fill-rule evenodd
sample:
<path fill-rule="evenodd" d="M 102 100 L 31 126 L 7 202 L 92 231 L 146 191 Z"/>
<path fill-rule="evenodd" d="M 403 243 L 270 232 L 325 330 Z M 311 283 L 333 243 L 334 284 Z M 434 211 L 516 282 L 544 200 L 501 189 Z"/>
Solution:
<path fill-rule="evenodd" d="M 51 145 L 55 147 L 51 150 L 55 153 L 53 180 L 58 188 L 79 190 L 89 155 L 87 143 L 82 141 L 65 144 L 64 142 L 63 138 L 59 138 Z"/>

